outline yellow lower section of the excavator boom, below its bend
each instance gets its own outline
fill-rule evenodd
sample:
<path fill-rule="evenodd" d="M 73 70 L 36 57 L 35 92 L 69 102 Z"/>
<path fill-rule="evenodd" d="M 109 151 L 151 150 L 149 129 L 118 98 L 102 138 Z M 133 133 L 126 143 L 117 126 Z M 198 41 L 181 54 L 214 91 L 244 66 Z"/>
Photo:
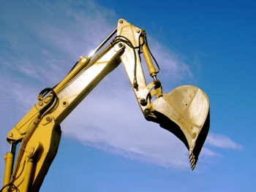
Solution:
<path fill-rule="evenodd" d="M 47 120 L 45 120 L 47 121 Z M 20 143 L 20 150 L 15 162 L 15 169 L 12 172 L 10 188 L 15 191 L 26 191 L 30 186 L 31 191 L 39 191 L 42 181 L 48 172 L 51 162 L 55 157 L 59 141 L 61 139 L 61 130 L 55 125 L 54 120 L 49 120 L 43 125 L 39 120 L 32 122 L 34 124 Z M 36 158 L 36 163 L 32 167 L 32 159 Z"/>

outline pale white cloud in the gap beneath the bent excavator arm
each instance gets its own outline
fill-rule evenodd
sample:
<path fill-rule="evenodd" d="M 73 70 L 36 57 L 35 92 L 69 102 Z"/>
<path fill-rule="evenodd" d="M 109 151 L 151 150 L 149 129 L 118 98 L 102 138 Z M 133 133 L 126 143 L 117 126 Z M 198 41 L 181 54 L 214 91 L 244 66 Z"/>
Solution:
<path fill-rule="evenodd" d="M 104 86 L 99 85 L 64 120 L 64 136 L 138 161 L 180 169 L 189 166 L 187 148 L 157 123 L 143 118 L 131 88 L 120 84 L 108 92 Z M 107 93 L 98 94 L 100 90 Z"/>

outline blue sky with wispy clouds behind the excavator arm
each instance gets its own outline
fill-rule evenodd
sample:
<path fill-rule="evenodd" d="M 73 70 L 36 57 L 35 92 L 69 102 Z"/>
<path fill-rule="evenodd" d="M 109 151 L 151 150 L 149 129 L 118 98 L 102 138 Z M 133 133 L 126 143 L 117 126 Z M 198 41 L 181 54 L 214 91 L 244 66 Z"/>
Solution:
<path fill-rule="evenodd" d="M 0 1 L 0 155 L 39 91 L 124 18 L 146 29 L 163 92 L 192 84 L 208 95 L 211 127 L 197 166 L 192 172 L 181 141 L 143 118 L 120 65 L 61 124 L 40 191 L 255 191 L 255 8 L 255 1 Z"/>

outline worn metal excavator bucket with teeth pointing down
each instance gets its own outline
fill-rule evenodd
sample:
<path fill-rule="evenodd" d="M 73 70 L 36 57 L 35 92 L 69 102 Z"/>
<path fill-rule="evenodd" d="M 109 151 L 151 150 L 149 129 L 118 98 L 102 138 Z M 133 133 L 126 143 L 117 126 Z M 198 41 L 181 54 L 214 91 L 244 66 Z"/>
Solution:
<path fill-rule="evenodd" d="M 181 139 L 189 150 L 192 170 L 206 140 L 209 126 L 209 101 L 206 93 L 192 85 L 183 85 L 155 99 L 147 120 L 159 123 Z"/>

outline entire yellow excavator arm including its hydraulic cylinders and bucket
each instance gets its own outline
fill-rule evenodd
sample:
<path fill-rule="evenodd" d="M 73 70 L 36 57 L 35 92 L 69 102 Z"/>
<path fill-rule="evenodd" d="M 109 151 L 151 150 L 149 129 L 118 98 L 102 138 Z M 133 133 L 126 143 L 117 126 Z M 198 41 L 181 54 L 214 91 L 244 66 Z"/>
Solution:
<path fill-rule="evenodd" d="M 106 46 L 107 42 L 110 43 Z M 148 84 L 140 61 L 141 53 L 152 77 Z M 146 31 L 124 19 L 118 20 L 117 28 L 94 52 L 88 57 L 81 56 L 58 85 L 39 93 L 37 104 L 9 132 L 7 142 L 11 150 L 5 156 L 1 191 L 39 191 L 59 147 L 61 122 L 121 63 L 146 120 L 159 123 L 184 142 L 194 169 L 208 134 L 208 97 L 192 85 L 162 93 L 161 82 L 157 79 L 159 69 L 151 58 L 154 57 L 148 50 Z"/>

